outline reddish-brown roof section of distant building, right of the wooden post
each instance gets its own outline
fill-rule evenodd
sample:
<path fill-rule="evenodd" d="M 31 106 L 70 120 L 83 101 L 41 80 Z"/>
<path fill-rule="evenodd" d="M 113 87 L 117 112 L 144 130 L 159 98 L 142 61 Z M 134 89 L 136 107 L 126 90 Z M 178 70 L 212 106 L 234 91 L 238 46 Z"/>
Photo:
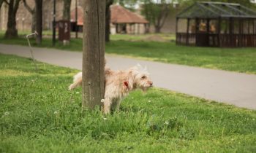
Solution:
<path fill-rule="evenodd" d="M 111 23 L 148 23 L 142 16 L 124 9 L 120 5 L 112 5 L 111 9 Z"/>

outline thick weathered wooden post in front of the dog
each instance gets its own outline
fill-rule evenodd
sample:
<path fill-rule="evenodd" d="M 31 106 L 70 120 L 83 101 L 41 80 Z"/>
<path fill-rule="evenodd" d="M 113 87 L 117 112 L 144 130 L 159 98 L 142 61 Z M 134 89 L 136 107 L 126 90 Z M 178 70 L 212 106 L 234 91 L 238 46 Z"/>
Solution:
<path fill-rule="evenodd" d="M 86 0 L 83 19 L 83 103 L 94 109 L 104 98 L 105 0 Z"/>

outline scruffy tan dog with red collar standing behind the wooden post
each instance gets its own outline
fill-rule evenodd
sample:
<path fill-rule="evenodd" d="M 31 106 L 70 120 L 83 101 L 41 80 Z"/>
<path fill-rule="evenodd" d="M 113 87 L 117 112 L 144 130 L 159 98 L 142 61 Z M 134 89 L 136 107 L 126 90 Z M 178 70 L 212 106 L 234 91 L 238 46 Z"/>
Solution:
<path fill-rule="evenodd" d="M 82 72 L 74 76 L 73 83 L 69 90 L 82 85 Z M 128 95 L 129 91 L 137 88 L 146 90 L 152 87 L 153 82 L 149 78 L 146 68 L 140 65 L 129 68 L 125 71 L 113 71 L 105 68 L 105 95 L 103 103 L 103 112 L 110 113 L 110 109 L 119 110 L 121 99 Z M 116 108 L 113 108 L 116 106 Z"/>

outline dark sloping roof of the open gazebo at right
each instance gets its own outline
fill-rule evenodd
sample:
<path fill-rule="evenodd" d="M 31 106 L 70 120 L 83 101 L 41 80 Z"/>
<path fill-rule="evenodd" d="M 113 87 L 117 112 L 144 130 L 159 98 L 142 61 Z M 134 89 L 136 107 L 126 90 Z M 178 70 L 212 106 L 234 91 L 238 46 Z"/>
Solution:
<path fill-rule="evenodd" d="M 256 12 L 248 7 L 235 3 L 196 2 L 176 15 L 178 18 L 217 18 L 238 17 L 256 18 Z"/>

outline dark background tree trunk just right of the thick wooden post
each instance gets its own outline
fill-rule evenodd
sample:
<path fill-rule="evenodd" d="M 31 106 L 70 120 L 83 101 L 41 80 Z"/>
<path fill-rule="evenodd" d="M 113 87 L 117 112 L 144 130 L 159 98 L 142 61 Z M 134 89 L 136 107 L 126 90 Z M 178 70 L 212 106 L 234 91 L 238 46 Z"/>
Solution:
<path fill-rule="evenodd" d="M 112 4 L 113 4 L 113 0 L 106 0 L 105 42 L 110 42 L 110 18 L 111 18 L 110 5 Z"/>

